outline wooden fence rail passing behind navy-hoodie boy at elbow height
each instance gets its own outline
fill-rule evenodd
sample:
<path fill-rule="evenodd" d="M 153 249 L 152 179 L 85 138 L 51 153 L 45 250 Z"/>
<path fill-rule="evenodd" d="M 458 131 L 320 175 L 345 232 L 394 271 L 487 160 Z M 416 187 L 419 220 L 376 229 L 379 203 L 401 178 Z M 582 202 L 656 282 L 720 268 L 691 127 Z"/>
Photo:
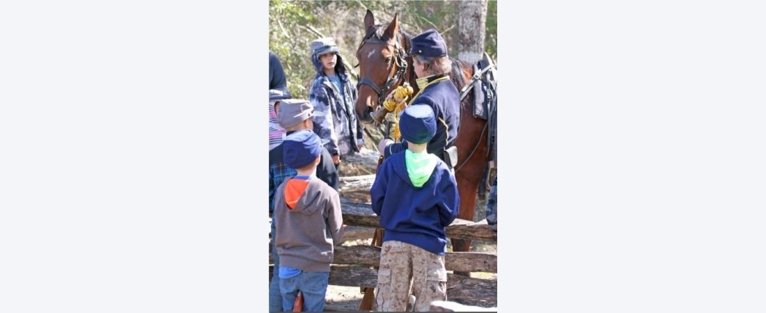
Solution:
<path fill-rule="evenodd" d="M 369 204 L 355 204 L 341 200 L 343 223 L 359 227 L 378 227 L 378 215 Z M 471 222 L 455 219 L 447 227 L 447 236 L 454 239 L 497 241 L 497 233 L 487 225 L 486 220 Z"/>

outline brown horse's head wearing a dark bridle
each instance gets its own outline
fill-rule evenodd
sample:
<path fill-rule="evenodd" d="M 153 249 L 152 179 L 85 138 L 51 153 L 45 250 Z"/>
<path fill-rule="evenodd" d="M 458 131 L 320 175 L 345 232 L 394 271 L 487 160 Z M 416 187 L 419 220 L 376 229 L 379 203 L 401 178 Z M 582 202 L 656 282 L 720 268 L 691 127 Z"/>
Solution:
<path fill-rule="evenodd" d="M 385 96 L 399 86 L 405 78 L 408 47 L 404 34 L 400 34 L 398 16 L 388 26 L 375 25 L 372 11 L 365 15 L 365 38 L 359 44 L 356 58 L 359 62 L 356 115 L 362 122 L 372 122 L 370 113 L 378 109 Z"/>

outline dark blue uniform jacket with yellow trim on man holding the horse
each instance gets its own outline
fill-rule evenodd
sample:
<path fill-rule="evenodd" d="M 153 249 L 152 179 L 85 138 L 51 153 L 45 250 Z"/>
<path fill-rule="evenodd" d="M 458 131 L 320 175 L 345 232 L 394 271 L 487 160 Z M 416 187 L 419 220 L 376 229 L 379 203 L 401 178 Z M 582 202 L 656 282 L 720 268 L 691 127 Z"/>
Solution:
<path fill-rule="evenodd" d="M 443 151 L 455 144 L 460 127 L 460 93 L 452 80 L 443 80 L 428 86 L 413 99 L 412 105 L 427 105 L 434 109 L 436 135 L 428 142 L 428 153 L 444 159 Z M 385 149 L 385 157 L 407 149 L 407 142 L 398 142 Z"/>

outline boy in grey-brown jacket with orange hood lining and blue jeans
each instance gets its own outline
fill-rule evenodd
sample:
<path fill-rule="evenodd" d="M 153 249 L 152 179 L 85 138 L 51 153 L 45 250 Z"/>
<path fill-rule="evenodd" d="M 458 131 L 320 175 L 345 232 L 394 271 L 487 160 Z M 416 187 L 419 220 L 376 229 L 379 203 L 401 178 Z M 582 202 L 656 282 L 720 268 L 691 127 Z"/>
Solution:
<path fill-rule="evenodd" d="M 316 178 L 322 152 L 319 136 L 298 131 L 286 136 L 282 145 L 285 164 L 298 172 L 277 188 L 274 198 L 282 306 L 292 311 L 300 291 L 303 311 L 322 311 L 333 246 L 343 237 L 340 198 Z"/>

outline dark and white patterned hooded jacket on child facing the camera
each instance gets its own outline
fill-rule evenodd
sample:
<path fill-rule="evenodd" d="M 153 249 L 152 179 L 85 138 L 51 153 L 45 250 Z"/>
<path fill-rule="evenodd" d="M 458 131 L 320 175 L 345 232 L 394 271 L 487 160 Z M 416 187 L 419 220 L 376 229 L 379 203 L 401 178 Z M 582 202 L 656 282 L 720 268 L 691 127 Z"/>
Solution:
<path fill-rule="evenodd" d="M 358 122 L 354 105 L 356 103 L 356 87 L 349 81 L 345 73 L 343 59 L 337 54 L 336 75 L 343 86 L 343 96 L 322 69 L 322 61 L 318 54 L 312 54 L 311 60 L 316 70 L 316 77 L 311 83 L 309 101 L 314 109 L 321 111 L 324 116 L 314 116 L 314 132 L 326 141 L 325 148 L 331 155 L 348 155 L 358 152 L 357 145 L 364 145 L 365 139 L 362 124 Z"/>

